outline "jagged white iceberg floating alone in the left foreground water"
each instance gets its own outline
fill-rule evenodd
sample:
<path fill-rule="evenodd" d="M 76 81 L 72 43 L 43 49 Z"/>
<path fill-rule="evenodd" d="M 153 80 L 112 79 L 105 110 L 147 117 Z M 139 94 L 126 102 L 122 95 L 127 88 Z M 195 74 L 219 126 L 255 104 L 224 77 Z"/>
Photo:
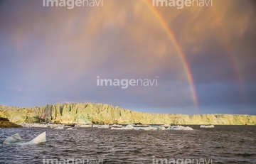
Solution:
<path fill-rule="evenodd" d="M 5 145 L 11 145 L 11 144 L 37 144 L 37 143 L 43 143 L 46 142 L 46 131 L 39 134 L 36 138 L 33 138 L 32 140 L 23 139 L 21 136 L 19 136 L 18 133 L 14 134 L 13 136 L 10 136 L 6 138 L 3 144 Z"/>

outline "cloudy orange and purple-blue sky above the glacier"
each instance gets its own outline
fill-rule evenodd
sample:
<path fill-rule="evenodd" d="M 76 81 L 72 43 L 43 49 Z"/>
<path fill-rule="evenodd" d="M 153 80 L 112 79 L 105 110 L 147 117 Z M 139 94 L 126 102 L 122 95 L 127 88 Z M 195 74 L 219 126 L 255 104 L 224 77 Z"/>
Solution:
<path fill-rule="evenodd" d="M 255 29 L 250 0 L 183 9 L 152 8 L 146 0 L 74 9 L 1 0 L 0 104 L 93 102 L 154 113 L 256 114 Z M 122 89 L 97 86 L 98 76 L 159 78 L 157 86 Z"/>

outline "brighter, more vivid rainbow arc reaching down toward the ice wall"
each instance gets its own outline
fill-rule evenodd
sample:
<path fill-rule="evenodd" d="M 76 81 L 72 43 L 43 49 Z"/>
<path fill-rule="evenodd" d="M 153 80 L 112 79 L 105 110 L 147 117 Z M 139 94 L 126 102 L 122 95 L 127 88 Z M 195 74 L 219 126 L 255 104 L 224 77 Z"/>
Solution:
<path fill-rule="evenodd" d="M 193 76 L 192 76 L 192 73 L 191 73 L 191 69 L 188 65 L 188 61 L 186 60 L 186 56 L 184 55 L 184 53 L 181 49 L 181 45 L 178 44 L 178 40 L 177 40 L 174 32 L 171 31 L 171 28 L 169 28 L 169 25 L 166 23 L 166 21 L 161 16 L 161 14 L 151 5 L 151 2 L 149 2 L 148 0 L 143 0 L 143 1 L 146 4 L 146 6 L 148 6 L 149 9 L 154 13 L 154 16 L 156 16 L 156 18 L 159 20 L 159 22 L 161 23 L 161 26 L 164 28 L 166 33 L 169 35 L 169 38 L 171 39 L 172 43 L 174 43 L 174 46 L 175 46 L 176 51 L 178 53 L 178 57 L 181 59 L 181 62 L 183 64 L 183 68 L 186 72 L 186 77 L 187 77 L 188 82 L 190 84 L 193 103 L 197 108 L 198 107 L 198 97 L 197 97 L 197 94 L 196 94 L 196 87 L 195 87 L 195 84 L 194 84 L 194 81 L 193 81 Z"/>

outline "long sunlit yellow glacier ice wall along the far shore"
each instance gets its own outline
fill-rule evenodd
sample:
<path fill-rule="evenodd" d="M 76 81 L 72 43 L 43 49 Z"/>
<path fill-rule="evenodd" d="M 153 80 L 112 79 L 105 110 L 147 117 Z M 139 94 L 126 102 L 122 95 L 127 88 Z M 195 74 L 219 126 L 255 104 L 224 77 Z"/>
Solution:
<path fill-rule="evenodd" d="M 0 117 L 16 123 L 60 124 L 225 124 L 256 125 L 256 116 L 232 114 L 149 114 L 110 104 L 48 104 L 32 108 L 0 105 Z"/>

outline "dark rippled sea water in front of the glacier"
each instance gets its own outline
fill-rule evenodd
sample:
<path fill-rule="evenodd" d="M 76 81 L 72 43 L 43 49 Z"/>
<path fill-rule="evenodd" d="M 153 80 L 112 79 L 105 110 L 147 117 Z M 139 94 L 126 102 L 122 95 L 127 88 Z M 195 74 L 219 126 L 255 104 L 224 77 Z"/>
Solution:
<path fill-rule="evenodd" d="M 256 163 L 256 126 L 215 126 L 193 131 L 98 128 L 0 129 L 0 163 Z M 14 133 L 46 143 L 3 145 Z"/>

